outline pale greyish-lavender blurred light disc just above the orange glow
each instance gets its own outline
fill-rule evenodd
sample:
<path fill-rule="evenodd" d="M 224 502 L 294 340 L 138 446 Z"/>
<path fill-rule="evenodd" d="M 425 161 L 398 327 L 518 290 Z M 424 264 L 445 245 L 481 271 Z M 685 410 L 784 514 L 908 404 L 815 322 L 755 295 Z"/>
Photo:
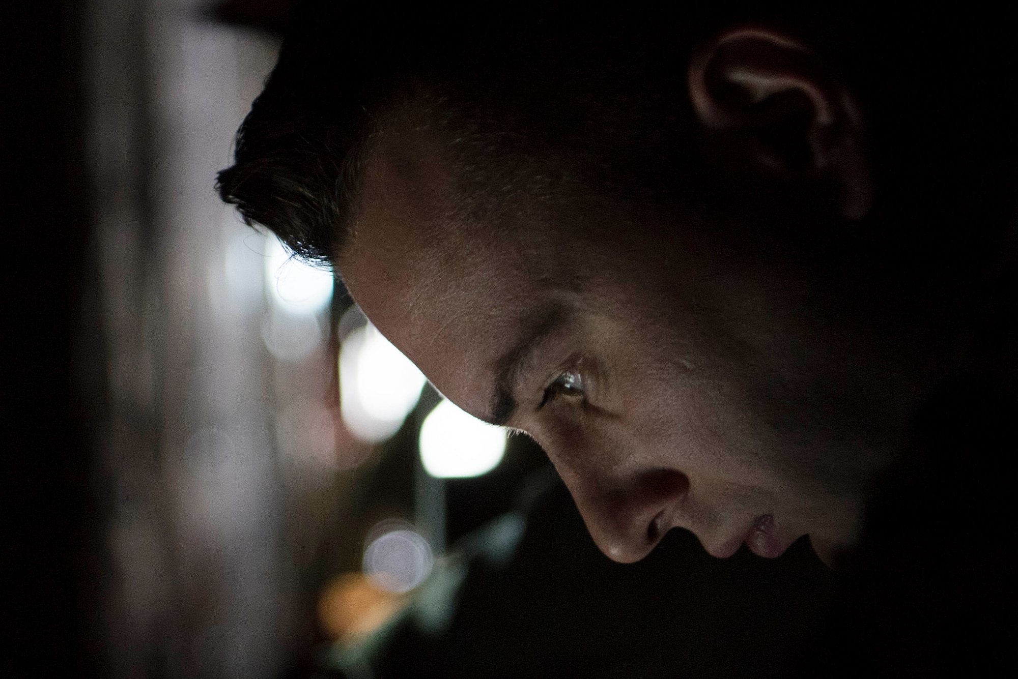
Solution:
<path fill-rule="evenodd" d="M 380 590 L 403 594 L 432 572 L 435 558 L 428 541 L 410 529 L 384 533 L 364 550 L 363 571 Z"/>

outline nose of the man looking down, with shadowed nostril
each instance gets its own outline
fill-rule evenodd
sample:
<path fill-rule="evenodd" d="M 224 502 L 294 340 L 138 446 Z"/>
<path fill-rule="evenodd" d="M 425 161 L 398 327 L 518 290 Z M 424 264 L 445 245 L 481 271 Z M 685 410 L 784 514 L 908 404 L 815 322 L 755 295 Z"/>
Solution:
<path fill-rule="evenodd" d="M 620 563 L 639 561 L 654 550 L 689 489 L 686 475 L 668 469 L 611 485 L 569 474 L 563 479 L 598 548 Z"/>

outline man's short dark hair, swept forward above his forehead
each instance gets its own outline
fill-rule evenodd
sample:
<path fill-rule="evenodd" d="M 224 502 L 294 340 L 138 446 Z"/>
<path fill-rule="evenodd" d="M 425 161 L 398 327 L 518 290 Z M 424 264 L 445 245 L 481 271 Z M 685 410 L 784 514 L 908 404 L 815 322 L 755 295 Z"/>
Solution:
<path fill-rule="evenodd" d="M 574 151 L 583 157 L 580 174 L 601 175 L 584 180 L 620 191 L 639 185 L 656 194 L 675 186 L 670 170 L 689 174 L 690 153 L 675 144 L 686 138 L 677 131 L 690 115 L 682 79 L 703 17 L 555 3 L 397 16 L 338 4 L 298 12 L 237 133 L 234 164 L 217 182 L 245 222 L 269 228 L 298 256 L 333 260 L 365 151 L 399 106 L 427 109 L 462 142 L 474 184 L 487 183 L 477 171 L 489 151 Z"/>

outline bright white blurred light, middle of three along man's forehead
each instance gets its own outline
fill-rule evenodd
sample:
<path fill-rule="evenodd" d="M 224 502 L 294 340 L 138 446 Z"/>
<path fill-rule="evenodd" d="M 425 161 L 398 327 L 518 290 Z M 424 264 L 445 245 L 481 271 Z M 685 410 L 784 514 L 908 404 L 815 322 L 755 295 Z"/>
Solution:
<path fill-rule="evenodd" d="M 425 376 L 367 323 L 351 331 L 339 355 L 343 422 L 363 441 L 389 438 L 420 398 Z"/>

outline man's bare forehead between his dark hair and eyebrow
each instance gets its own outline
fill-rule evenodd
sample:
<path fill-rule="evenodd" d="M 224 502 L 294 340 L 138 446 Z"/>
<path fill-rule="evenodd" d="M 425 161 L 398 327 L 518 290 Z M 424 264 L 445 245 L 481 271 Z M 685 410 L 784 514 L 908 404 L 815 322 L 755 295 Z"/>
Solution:
<path fill-rule="evenodd" d="M 520 316 L 540 299 L 512 248 L 485 225 L 457 225 L 443 169 L 375 155 L 339 264 L 354 300 L 443 393 L 474 415 Z"/>

